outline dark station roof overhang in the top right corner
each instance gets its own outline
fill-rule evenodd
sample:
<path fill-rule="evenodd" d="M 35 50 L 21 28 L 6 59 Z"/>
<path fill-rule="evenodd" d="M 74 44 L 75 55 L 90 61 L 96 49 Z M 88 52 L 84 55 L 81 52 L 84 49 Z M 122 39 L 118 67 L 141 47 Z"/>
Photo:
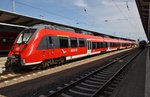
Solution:
<path fill-rule="evenodd" d="M 136 0 L 136 3 L 146 36 L 150 41 L 150 0 Z"/>

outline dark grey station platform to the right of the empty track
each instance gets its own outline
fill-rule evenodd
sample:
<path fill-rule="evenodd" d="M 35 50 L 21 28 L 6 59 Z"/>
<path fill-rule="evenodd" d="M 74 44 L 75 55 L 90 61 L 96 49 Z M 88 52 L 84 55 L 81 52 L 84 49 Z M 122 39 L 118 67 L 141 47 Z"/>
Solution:
<path fill-rule="evenodd" d="M 118 89 L 111 97 L 150 97 L 150 47 L 134 60 Z"/>

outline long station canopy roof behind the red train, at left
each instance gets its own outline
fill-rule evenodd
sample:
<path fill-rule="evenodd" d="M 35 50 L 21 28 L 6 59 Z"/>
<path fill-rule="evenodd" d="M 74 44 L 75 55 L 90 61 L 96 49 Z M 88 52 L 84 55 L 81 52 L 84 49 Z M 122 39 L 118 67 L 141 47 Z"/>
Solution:
<path fill-rule="evenodd" d="M 11 26 L 20 27 L 20 28 L 33 26 L 35 24 L 56 24 L 56 25 L 60 25 L 60 26 L 64 26 L 64 27 L 70 27 L 70 28 L 85 30 L 82 28 L 72 27 L 72 26 L 68 26 L 68 25 L 64 25 L 64 24 L 60 24 L 60 23 L 54 23 L 54 22 L 50 22 L 47 20 L 39 19 L 39 18 L 21 15 L 21 14 L 14 13 L 14 12 L 0 10 L 0 26 L 9 26 L 9 24 Z M 89 30 L 85 30 L 85 31 L 89 31 Z M 131 40 L 131 39 L 125 39 L 125 38 L 121 38 L 121 37 L 106 35 L 106 34 L 98 33 L 95 31 L 92 31 L 92 33 L 96 36 L 101 35 L 101 36 L 111 37 L 111 38 Z M 134 40 L 132 40 L 132 41 L 134 41 Z"/>

